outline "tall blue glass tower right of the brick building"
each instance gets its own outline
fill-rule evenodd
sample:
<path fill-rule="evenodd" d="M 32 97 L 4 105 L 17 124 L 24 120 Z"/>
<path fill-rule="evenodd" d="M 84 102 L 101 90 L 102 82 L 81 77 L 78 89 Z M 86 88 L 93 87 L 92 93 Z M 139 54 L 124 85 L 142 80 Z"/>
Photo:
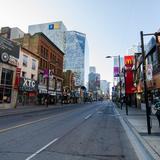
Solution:
<path fill-rule="evenodd" d="M 74 72 L 76 86 L 84 86 L 89 70 L 86 35 L 76 31 L 67 31 L 65 37 L 64 69 Z"/>

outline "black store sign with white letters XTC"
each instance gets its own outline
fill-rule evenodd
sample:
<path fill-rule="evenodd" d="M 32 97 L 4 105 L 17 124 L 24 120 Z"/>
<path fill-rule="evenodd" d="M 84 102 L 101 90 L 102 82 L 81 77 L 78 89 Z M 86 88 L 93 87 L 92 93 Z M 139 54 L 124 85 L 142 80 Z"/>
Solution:
<path fill-rule="evenodd" d="M 20 90 L 23 91 L 36 91 L 37 90 L 37 82 L 28 78 L 21 78 L 20 81 Z"/>

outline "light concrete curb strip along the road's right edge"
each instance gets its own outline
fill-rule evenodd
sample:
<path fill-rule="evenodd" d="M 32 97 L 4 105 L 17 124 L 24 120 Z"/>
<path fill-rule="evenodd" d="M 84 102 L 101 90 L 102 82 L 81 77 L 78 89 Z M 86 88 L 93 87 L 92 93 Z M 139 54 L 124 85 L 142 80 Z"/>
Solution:
<path fill-rule="evenodd" d="M 125 132 L 128 136 L 128 139 L 130 140 L 138 158 L 140 160 L 159 160 L 160 156 L 158 153 L 151 147 L 146 140 L 140 136 L 140 134 L 137 132 L 135 127 L 128 121 L 126 117 L 122 117 L 119 111 L 116 109 L 116 105 L 112 103 L 114 106 L 114 110 L 116 113 L 118 113 L 119 120 L 122 124 L 122 126 L 125 129 Z"/>

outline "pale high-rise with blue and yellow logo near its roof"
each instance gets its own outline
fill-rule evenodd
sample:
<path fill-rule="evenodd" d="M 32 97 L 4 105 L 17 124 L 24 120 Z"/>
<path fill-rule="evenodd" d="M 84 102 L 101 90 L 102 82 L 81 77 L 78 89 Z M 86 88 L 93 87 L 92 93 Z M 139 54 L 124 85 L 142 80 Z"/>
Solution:
<path fill-rule="evenodd" d="M 65 31 L 66 27 L 63 22 L 51 22 L 43 24 L 29 25 L 28 33 L 44 33 L 59 49 L 65 51 Z"/>

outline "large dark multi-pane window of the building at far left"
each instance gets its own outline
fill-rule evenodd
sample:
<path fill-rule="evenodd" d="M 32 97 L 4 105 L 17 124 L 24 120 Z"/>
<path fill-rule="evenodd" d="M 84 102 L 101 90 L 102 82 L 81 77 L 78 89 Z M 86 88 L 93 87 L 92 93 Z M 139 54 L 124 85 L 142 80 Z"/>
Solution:
<path fill-rule="evenodd" d="M 11 103 L 13 71 L 2 68 L 0 103 Z"/>

